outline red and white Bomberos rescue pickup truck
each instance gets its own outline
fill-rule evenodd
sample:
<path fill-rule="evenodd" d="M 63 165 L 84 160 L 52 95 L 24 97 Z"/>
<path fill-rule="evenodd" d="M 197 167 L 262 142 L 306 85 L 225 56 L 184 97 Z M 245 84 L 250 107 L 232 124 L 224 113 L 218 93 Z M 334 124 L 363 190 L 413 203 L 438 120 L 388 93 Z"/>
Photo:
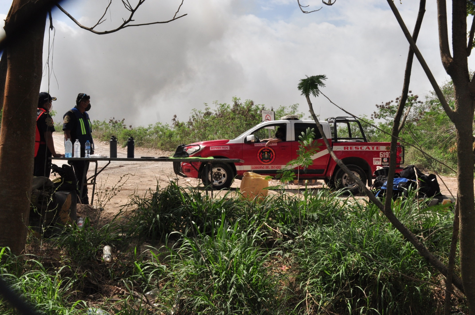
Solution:
<path fill-rule="evenodd" d="M 353 117 L 329 118 L 320 121 L 325 135 L 336 156 L 369 186 L 376 167 L 389 165 L 390 143 L 368 142 L 361 123 Z M 313 157 L 314 163 L 307 169 L 295 167 L 299 179 L 323 179 L 332 188 L 347 188 L 356 192 L 358 185 L 330 157 L 322 136 L 313 120 L 299 120 L 296 115 L 287 115 L 281 120 L 264 121 L 243 132 L 232 140 L 211 140 L 187 145 L 185 151 L 190 157 L 239 158 L 244 163 L 213 163 L 212 171 L 201 162 L 174 162 L 177 175 L 201 178 L 214 189 L 229 188 L 233 179 L 242 178 L 244 172 L 254 172 L 266 176 L 276 176 L 277 172 L 297 157 L 298 140 L 307 128 L 314 129 L 315 140 L 320 142 L 320 150 Z M 269 132 L 270 130 L 270 132 Z M 269 143 L 271 133 L 282 140 Z M 271 137 L 269 137 L 271 135 Z M 396 171 L 404 163 L 404 147 L 398 144 Z M 208 174 L 205 174 L 205 169 Z M 208 175 L 208 176 L 207 176 Z"/>

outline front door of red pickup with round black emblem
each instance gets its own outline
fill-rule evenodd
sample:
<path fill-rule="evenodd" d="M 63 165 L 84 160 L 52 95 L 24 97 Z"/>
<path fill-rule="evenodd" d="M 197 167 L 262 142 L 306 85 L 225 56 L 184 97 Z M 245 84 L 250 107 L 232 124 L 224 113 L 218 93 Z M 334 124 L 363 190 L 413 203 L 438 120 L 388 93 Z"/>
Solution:
<path fill-rule="evenodd" d="M 274 127 L 274 129 L 265 127 Z M 266 147 L 266 139 L 274 139 L 279 130 L 283 132 L 283 136 L 281 136 L 283 141 L 271 143 Z M 269 123 L 261 129 L 255 130 L 253 134 L 255 141 L 244 143 L 242 146 L 242 159 L 245 161 L 244 170 L 257 174 L 276 175 L 277 171 L 284 168 L 291 160 L 290 123 Z"/>

